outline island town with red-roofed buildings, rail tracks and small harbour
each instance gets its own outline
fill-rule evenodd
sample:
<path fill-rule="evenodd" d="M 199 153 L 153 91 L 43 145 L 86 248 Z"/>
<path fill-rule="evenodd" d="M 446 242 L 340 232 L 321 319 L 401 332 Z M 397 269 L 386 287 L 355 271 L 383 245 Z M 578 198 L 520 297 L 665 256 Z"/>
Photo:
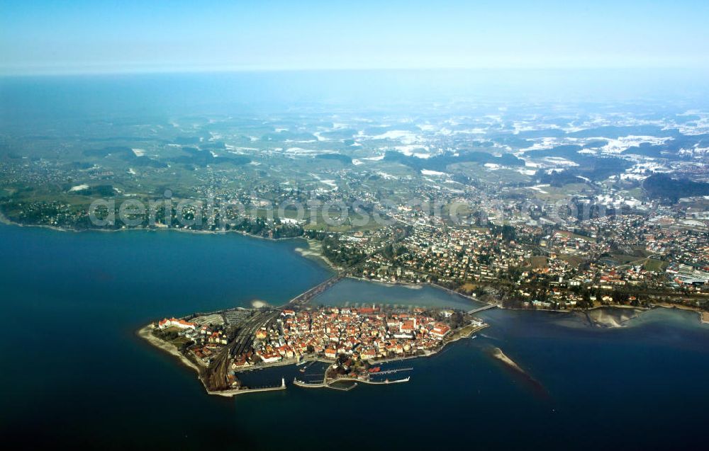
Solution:
<path fill-rule="evenodd" d="M 317 382 L 296 378 L 295 386 L 352 389 L 358 383 L 408 382 L 409 377 L 397 378 L 396 373 L 413 368 L 382 368 L 428 357 L 447 343 L 475 337 L 487 326 L 472 316 L 476 311 L 296 304 L 165 318 L 146 326 L 141 335 L 197 370 L 210 394 L 285 389 L 284 379 L 274 387 L 247 387 L 240 375 L 283 365 L 300 366 L 304 373 L 316 362 L 325 364 Z"/>

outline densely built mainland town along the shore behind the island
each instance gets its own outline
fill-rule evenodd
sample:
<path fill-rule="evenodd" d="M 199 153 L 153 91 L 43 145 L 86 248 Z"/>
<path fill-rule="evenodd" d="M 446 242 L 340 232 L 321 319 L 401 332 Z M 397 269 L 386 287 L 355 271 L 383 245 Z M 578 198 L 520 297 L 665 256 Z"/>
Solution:
<path fill-rule="evenodd" d="M 359 232 L 340 237 L 340 247 L 357 252 L 384 240 Z M 369 255 L 355 274 L 457 290 L 494 285 L 537 307 L 591 307 L 618 299 L 632 304 L 639 300 L 632 289 L 703 292 L 709 282 L 709 234 L 703 222 L 662 208 L 652 216 L 596 217 L 569 226 L 415 222 L 389 252 Z M 614 295 L 619 291 L 627 293 Z"/>

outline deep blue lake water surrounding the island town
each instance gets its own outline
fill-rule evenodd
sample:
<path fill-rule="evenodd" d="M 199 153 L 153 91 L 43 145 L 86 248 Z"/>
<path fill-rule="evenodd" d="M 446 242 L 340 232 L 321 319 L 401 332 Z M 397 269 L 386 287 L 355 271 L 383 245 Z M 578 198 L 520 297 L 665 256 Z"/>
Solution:
<path fill-rule="evenodd" d="M 0 430 L 26 444 L 240 449 L 698 449 L 709 327 L 657 310 L 622 329 L 489 310 L 474 340 L 407 361 L 411 382 L 208 396 L 135 330 L 152 319 L 279 304 L 330 276 L 295 248 L 235 234 L 64 233 L 0 226 Z M 345 280 L 316 302 L 469 299 Z M 501 348 L 528 374 L 491 356 Z M 409 365 L 411 362 L 411 365 Z M 294 367 L 250 375 L 292 380 Z"/>

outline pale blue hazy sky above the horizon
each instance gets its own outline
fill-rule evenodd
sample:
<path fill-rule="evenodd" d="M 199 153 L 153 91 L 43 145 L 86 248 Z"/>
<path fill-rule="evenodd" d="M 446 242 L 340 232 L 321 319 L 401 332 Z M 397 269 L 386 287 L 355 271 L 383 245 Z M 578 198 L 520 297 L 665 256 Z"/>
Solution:
<path fill-rule="evenodd" d="M 578 4 L 577 4 L 578 3 Z M 0 74 L 709 67 L 709 1 L 0 1 Z"/>

